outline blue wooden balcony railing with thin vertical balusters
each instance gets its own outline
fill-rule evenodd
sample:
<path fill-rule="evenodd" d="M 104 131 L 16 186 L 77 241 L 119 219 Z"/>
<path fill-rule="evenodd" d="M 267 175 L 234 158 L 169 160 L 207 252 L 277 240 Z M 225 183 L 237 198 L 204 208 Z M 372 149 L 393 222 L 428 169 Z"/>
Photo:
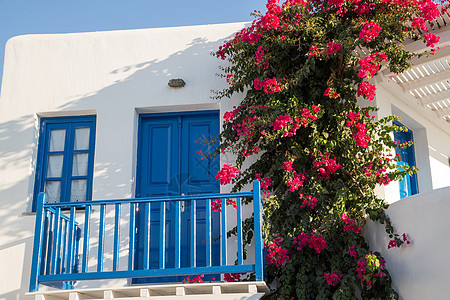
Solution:
<path fill-rule="evenodd" d="M 253 198 L 254 263 L 244 260 L 242 211 L 243 203 L 249 202 L 243 201 L 244 198 Z M 220 212 L 211 208 L 217 199 L 220 199 Z M 229 209 L 227 212 L 230 199 L 236 203 L 235 213 Z M 126 210 L 126 218 L 121 217 L 122 210 Z M 256 280 L 263 280 L 261 211 L 258 181 L 253 183 L 251 193 L 71 203 L 47 203 L 46 195 L 41 193 L 36 208 L 30 291 L 37 291 L 39 284 L 70 289 L 79 280 L 146 278 L 151 282 L 152 278 L 168 278 L 176 281 L 174 278 L 180 276 L 238 272 L 255 272 Z M 237 259 L 229 261 L 227 253 L 231 251 L 231 243 L 227 242 L 227 232 L 231 228 L 227 223 L 234 225 L 234 215 Z M 171 225 L 167 226 L 169 221 Z M 123 224 L 128 227 L 125 234 L 120 230 Z M 92 227 L 96 230 L 91 230 Z M 108 255 L 105 255 L 106 239 L 112 242 L 108 247 L 112 253 Z M 92 251 L 95 246 L 96 251 Z M 119 261 L 126 261 L 127 266 L 119 267 Z"/>

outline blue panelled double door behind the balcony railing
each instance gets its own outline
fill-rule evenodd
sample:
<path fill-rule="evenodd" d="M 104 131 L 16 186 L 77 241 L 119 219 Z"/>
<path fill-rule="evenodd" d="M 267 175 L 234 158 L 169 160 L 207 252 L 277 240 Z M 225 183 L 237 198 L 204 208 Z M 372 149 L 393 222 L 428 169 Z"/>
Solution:
<path fill-rule="evenodd" d="M 218 193 L 215 176 L 219 170 L 218 157 L 202 159 L 201 152 L 208 153 L 212 144 L 201 140 L 212 139 L 219 134 L 217 111 L 144 115 L 140 118 L 136 197 L 179 196 L 201 193 Z M 150 211 L 138 207 L 136 223 L 135 268 L 144 269 L 144 234 L 149 234 L 149 268 L 159 268 L 160 204 L 152 204 Z M 197 201 L 197 266 L 206 265 L 205 203 Z M 145 230 L 144 215 L 150 214 L 150 228 Z M 166 268 L 175 266 L 175 205 L 166 205 Z M 190 203 L 182 204 L 181 213 L 181 267 L 190 266 Z M 213 236 L 219 236 L 219 218 L 213 213 Z M 147 233 L 146 233 L 147 232 Z M 213 242 L 213 265 L 219 264 L 219 244 Z M 143 278 L 135 283 L 179 282 L 186 276 Z M 205 278 L 208 280 L 208 278 Z M 209 279 L 210 280 L 210 279 Z"/>

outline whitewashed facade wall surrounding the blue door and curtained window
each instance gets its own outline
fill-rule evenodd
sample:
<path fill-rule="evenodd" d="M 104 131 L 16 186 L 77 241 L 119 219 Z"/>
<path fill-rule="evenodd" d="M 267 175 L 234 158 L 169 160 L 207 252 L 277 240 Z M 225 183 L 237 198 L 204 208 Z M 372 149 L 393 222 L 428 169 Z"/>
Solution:
<path fill-rule="evenodd" d="M 138 114 L 230 110 L 237 99 L 219 104 L 210 98 L 212 89 L 226 86 L 215 76 L 224 62 L 210 53 L 243 26 L 28 35 L 8 41 L 0 99 L 0 299 L 22 299 L 28 290 L 35 218 L 24 213 L 32 205 L 39 118 L 97 115 L 92 197 L 131 197 Z M 170 88 L 172 78 L 184 79 L 186 86 Z"/>

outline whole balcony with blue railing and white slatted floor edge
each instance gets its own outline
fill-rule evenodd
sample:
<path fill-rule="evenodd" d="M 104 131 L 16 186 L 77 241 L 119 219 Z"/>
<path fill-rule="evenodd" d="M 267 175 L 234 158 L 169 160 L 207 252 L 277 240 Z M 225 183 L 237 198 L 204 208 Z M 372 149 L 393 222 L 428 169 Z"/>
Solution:
<path fill-rule="evenodd" d="M 41 193 L 29 295 L 44 297 L 39 291 L 44 285 L 57 288 L 45 292 L 45 299 L 81 299 L 80 293 L 102 299 L 115 293 L 127 299 L 197 293 L 228 299 L 231 294 L 251 294 L 248 299 L 258 299 L 255 296 L 267 292 L 261 211 L 258 181 L 248 193 L 70 203 L 47 203 Z M 243 213 L 253 214 L 253 224 L 244 221 Z M 245 234 L 246 224 L 251 225 L 252 238 Z M 231 229 L 235 239 L 228 234 Z M 245 259 L 247 251 L 254 259 Z M 234 253 L 235 260 L 230 259 Z M 227 273 L 253 273 L 255 281 L 224 283 Z M 209 283 L 181 284 L 198 275 Z M 127 279 L 128 286 L 78 288 L 80 282 L 101 280 L 108 285 L 113 279 Z"/>

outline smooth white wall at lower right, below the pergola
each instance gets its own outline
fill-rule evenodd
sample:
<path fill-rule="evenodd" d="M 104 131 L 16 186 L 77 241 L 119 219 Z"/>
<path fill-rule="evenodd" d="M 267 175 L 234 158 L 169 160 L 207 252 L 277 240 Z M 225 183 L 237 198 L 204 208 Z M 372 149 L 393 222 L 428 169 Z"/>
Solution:
<path fill-rule="evenodd" d="M 369 222 L 365 235 L 369 245 L 387 262 L 393 286 L 402 300 L 449 299 L 450 282 L 450 187 L 397 201 L 387 215 L 410 245 L 387 249 L 384 226 Z"/>

